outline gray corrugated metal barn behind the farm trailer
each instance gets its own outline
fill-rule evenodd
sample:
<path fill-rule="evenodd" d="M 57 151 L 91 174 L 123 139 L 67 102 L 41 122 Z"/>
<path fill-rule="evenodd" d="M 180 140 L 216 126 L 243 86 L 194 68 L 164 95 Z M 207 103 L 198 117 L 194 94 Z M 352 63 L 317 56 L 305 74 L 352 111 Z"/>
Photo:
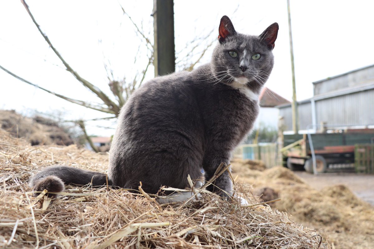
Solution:
<path fill-rule="evenodd" d="M 374 65 L 313 82 L 311 99 L 298 102 L 299 130 L 326 127 L 374 128 Z M 277 106 L 285 131 L 292 131 L 291 104 Z M 373 126 L 373 127 L 372 127 Z"/>

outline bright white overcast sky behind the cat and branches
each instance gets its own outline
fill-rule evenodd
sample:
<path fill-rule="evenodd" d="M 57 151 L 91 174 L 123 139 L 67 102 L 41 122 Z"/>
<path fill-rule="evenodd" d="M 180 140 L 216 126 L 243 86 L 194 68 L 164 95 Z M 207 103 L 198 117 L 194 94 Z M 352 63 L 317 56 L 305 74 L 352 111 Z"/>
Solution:
<path fill-rule="evenodd" d="M 153 1 L 120 1 L 134 21 L 153 41 Z M 104 61 L 110 60 L 114 76 L 132 81 L 147 64 L 147 51 L 117 0 L 28 0 L 42 30 L 64 59 L 83 78 L 110 95 Z M 239 7 L 238 7 L 239 6 Z M 237 10 L 236 10 L 237 9 Z M 236 12 L 235 12 L 236 10 Z M 297 99 L 313 96 L 312 82 L 374 64 L 374 1 L 291 0 Z M 212 29 L 228 15 L 235 29 L 260 34 L 278 22 L 273 50 L 275 66 L 266 86 L 291 100 L 291 61 L 286 0 L 202 1 L 175 0 L 175 50 L 180 56 L 195 37 Z M 0 1 L 0 65 L 56 93 L 85 101 L 98 101 L 67 71 L 54 55 L 20 1 Z M 217 38 L 216 33 L 206 40 Z M 99 42 L 99 40 L 101 42 Z M 138 51 L 138 48 L 140 49 Z M 202 49 L 202 48 L 201 48 Z M 196 52 L 201 51 L 196 50 Z M 198 54 L 197 54 L 198 55 Z M 211 50 L 201 60 L 209 62 Z M 134 63 L 134 58 L 137 61 Z M 153 77 L 153 67 L 147 78 Z M 65 112 L 68 119 L 104 117 L 102 113 L 70 104 L 16 80 L 0 70 L 0 108 L 27 114 Z M 113 130 L 89 123 L 89 133 L 110 136 Z"/>

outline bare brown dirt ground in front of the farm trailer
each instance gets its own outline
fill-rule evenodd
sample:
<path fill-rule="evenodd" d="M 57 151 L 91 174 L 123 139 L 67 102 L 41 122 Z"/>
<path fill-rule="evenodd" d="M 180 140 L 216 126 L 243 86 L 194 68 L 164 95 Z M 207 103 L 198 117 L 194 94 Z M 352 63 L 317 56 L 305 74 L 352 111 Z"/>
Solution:
<path fill-rule="evenodd" d="M 336 184 L 345 184 L 356 196 L 374 206 L 374 175 L 355 173 L 313 175 L 304 171 L 295 171 L 294 173 L 316 190 Z"/>

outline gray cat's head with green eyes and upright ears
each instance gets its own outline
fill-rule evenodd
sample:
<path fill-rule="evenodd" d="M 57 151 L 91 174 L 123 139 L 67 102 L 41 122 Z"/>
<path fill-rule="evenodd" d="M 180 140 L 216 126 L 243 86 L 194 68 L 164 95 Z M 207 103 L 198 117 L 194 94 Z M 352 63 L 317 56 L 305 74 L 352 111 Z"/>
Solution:
<path fill-rule="evenodd" d="M 234 88 L 248 87 L 258 94 L 273 68 L 278 29 L 273 23 L 258 36 L 239 34 L 223 16 L 211 62 L 216 81 Z"/>

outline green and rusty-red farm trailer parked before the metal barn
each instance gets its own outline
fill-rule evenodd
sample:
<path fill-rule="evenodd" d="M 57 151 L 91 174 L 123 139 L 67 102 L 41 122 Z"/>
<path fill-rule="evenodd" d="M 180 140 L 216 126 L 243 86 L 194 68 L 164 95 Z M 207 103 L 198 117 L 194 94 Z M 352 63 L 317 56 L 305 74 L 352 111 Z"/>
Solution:
<path fill-rule="evenodd" d="M 344 169 L 374 173 L 374 129 L 352 129 L 338 133 L 310 134 L 316 172 Z M 295 170 L 304 166 L 313 172 L 312 150 L 307 134 L 283 135 L 283 162 Z"/>

